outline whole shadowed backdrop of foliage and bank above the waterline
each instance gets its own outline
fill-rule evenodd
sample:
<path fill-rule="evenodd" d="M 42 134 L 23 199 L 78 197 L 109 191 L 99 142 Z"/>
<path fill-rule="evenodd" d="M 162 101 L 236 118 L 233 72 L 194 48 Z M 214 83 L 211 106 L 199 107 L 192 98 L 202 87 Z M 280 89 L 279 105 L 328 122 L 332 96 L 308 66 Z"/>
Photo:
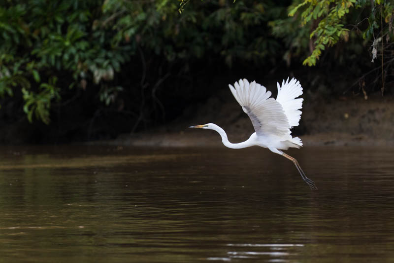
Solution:
<path fill-rule="evenodd" d="M 0 142 L 135 138 L 218 120 L 250 133 L 228 84 L 246 77 L 275 96 L 288 76 L 304 88 L 295 135 L 393 138 L 393 4 L 300 3 L 3 0 Z"/>

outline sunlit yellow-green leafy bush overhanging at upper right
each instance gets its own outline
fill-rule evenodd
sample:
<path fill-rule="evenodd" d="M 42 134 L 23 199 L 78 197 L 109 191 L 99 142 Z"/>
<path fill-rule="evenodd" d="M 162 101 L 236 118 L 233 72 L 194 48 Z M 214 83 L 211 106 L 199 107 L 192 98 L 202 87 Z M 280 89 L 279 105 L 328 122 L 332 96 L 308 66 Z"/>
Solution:
<path fill-rule="evenodd" d="M 296 2 L 296 1 L 295 1 Z M 374 2 L 378 6 L 374 5 Z M 372 6 L 371 6 L 372 4 Z M 366 18 L 362 17 L 362 9 L 369 7 L 371 11 L 369 16 Z M 394 5 L 390 1 L 385 0 L 323 0 L 323 1 L 310 1 L 304 0 L 298 5 L 292 5 L 289 7 L 289 16 L 294 16 L 299 9 L 303 11 L 300 14 L 301 25 L 308 25 L 312 32 L 309 38 L 313 39 L 312 54 L 310 54 L 304 61 L 303 65 L 315 66 L 316 60 L 320 58 L 322 51 L 327 46 L 332 46 L 336 44 L 341 38 L 347 41 L 349 39 L 350 29 L 346 28 L 350 25 L 356 25 L 353 28 L 357 28 L 362 20 L 366 19 L 368 21 L 368 27 L 364 30 L 359 30 L 362 33 L 362 38 L 370 40 L 374 36 L 374 29 L 381 29 L 381 37 L 390 39 L 391 27 L 393 24 L 392 17 L 394 16 Z M 357 9 L 361 10 L 358 11 Z M 349 17 L 349 12 L 356 13 L 356 21 L 353 17 Z M 350 18 L 346 21 L 346 16 Z M 385 18 L 386 26 L 382 24 L 381 18 Z M 360 21 L 358 21 L 360 19 Z M 314 22 L 314 23 L 311 23 Z M 380 24 L 380 26 L 379 26 Z M 275 26 L 275 24 L 272 24 Z M 278 29 L 276 31 L 279 34 L 283 34 Z M 278 35 L 279 35 L 278 34 Z M 304 36 L 302 36 L 304 37 Z M 373 51 L 374 52 L 374 51 Z M 376 53 L 374 55 L 376 57 Z"/>

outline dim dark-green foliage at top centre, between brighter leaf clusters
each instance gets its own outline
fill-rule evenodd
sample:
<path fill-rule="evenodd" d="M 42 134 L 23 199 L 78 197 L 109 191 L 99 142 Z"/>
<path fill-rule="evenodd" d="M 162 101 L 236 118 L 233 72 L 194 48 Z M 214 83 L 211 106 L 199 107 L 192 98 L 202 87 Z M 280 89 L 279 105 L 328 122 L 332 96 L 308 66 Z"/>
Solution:
<path fill-rule="evenodd" d="M 167 61 L 187 61 L 218 53 L 231 65 L 236 58 L 256 61 L 276 53 L 266 23 L 284 11 L 274 1 L 180 1 L 188 3 L 181 15 L 176 1 L 107 0 L 104 25 L 116 33 L 113 44 L 133 41 Z M 284 14 L 284 12 L 282 12 Z M 115 16 L 114 14 L 119 14 Z"/>

